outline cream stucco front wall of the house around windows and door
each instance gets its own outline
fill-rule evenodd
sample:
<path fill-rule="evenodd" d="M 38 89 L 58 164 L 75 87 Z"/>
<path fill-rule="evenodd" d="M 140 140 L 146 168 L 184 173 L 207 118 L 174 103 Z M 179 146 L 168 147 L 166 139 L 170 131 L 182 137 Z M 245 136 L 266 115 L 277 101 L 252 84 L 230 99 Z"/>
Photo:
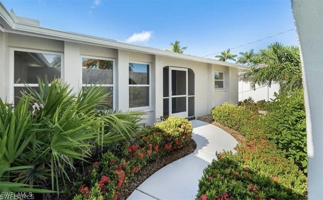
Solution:
<path fill-rule="evenodd" d="M 165 66 L 183 67 L 195 74 L 195 116 L 208 114 L 213 106 L 224 102 L 236 103 L 238 95 L 238 70 L 202 62 L 155 56 L 147 53 L 131 52 L 122 49 L 39 38 L 0 32 L 0 97 L 13 102 L 14 51 L 44 51 L 61 53 L 62 79 L 70 84 L 74 92 L 82 87 L 82 57 L 106 58 L 115 61 L 114 69 L 114 107 L 118 111 L 143 111 L 146 114 L 142 123 L 152 125 L 156 118 L 163 116 L 163 68 Z M 129 108 L 129 62 L 150 65 L 150 106 Z M 9 65 L 9 67 L 8 67 Z M 214 90 L 214 71 L 225 72 L 225 89 Z M 230 79 L 232 80 L 230 81 Z M 230 94 L 230 92 L 236 94 Z"/>

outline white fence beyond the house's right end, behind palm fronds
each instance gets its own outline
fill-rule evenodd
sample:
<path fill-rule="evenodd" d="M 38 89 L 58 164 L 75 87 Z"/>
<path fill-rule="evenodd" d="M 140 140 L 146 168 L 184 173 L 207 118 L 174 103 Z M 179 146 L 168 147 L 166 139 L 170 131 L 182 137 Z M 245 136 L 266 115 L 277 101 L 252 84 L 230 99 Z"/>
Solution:
<path fill-rule="evenodd" d="M 274 93 L 279 92 L 279 84 L 272 84 L 268 86 L 257 86 L 256 90 L 250 88 L 250 82 L 239 81 L 239 101 L 243 101 L 246 98 L 251 97 L 255 102 L 260 100 L 270 101 L 271 98 L 275 98 Z"/>

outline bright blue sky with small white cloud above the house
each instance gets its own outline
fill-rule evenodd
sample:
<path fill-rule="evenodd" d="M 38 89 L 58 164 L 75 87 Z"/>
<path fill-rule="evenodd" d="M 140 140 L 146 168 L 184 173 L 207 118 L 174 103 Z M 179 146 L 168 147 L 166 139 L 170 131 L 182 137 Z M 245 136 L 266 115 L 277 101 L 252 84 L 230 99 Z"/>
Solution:
<path fill-rule="evenodd" d="M 0 0 L 1 1 L 1 0 Z M 47 28 L 206 56 L 295 28 L 290 1 L 1 1 L 16 15 Z M 288 31 L 231 49 L 234 54 L 278 41 L 297 45 Z M 206 58 L 213 58 L 214 55 Z"/>

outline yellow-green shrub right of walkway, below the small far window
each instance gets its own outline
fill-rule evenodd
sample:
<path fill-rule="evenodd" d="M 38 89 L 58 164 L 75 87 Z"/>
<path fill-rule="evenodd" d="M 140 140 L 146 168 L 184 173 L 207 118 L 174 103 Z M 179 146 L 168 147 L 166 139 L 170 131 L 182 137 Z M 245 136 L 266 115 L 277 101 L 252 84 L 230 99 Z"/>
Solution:
<path fill-rule="evenodd" d="M 214 107 L 211 115 L 215 121 L 237 131 L 241 131 L 253 118 L 257 117 L 256 113 L 250 112 L 247 108 L 229 103 Z"/>

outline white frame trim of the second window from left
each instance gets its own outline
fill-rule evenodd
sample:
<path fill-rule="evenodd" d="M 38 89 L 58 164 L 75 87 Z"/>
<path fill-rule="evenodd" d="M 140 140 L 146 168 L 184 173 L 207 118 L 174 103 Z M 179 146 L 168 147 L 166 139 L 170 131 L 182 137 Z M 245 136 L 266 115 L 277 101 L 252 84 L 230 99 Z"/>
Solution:
<path fill-rule="evenodd" d="M 112 61 L 113 62 L 113 71 L 112 71 L 112 84 L 83 84 L 83 74 L 82 74 L 82 59 L 83 58 L 87 58 L 87 59 L 97 59 L 97 60 L 104 60 L 104 61 Z M 88 55 L 80 55 L 80 60 L 81 60 L 81 85 L 82 88 L 83 87 L 87 87 L 87 86 L 103 86 L 103 87 L 112 87 L 112 109 L 115 110 L 116 109 L 116 59 L 113 58 L 106 58 L 106 57 L 96 57 L 96 56 L 88 56 Z"/>

